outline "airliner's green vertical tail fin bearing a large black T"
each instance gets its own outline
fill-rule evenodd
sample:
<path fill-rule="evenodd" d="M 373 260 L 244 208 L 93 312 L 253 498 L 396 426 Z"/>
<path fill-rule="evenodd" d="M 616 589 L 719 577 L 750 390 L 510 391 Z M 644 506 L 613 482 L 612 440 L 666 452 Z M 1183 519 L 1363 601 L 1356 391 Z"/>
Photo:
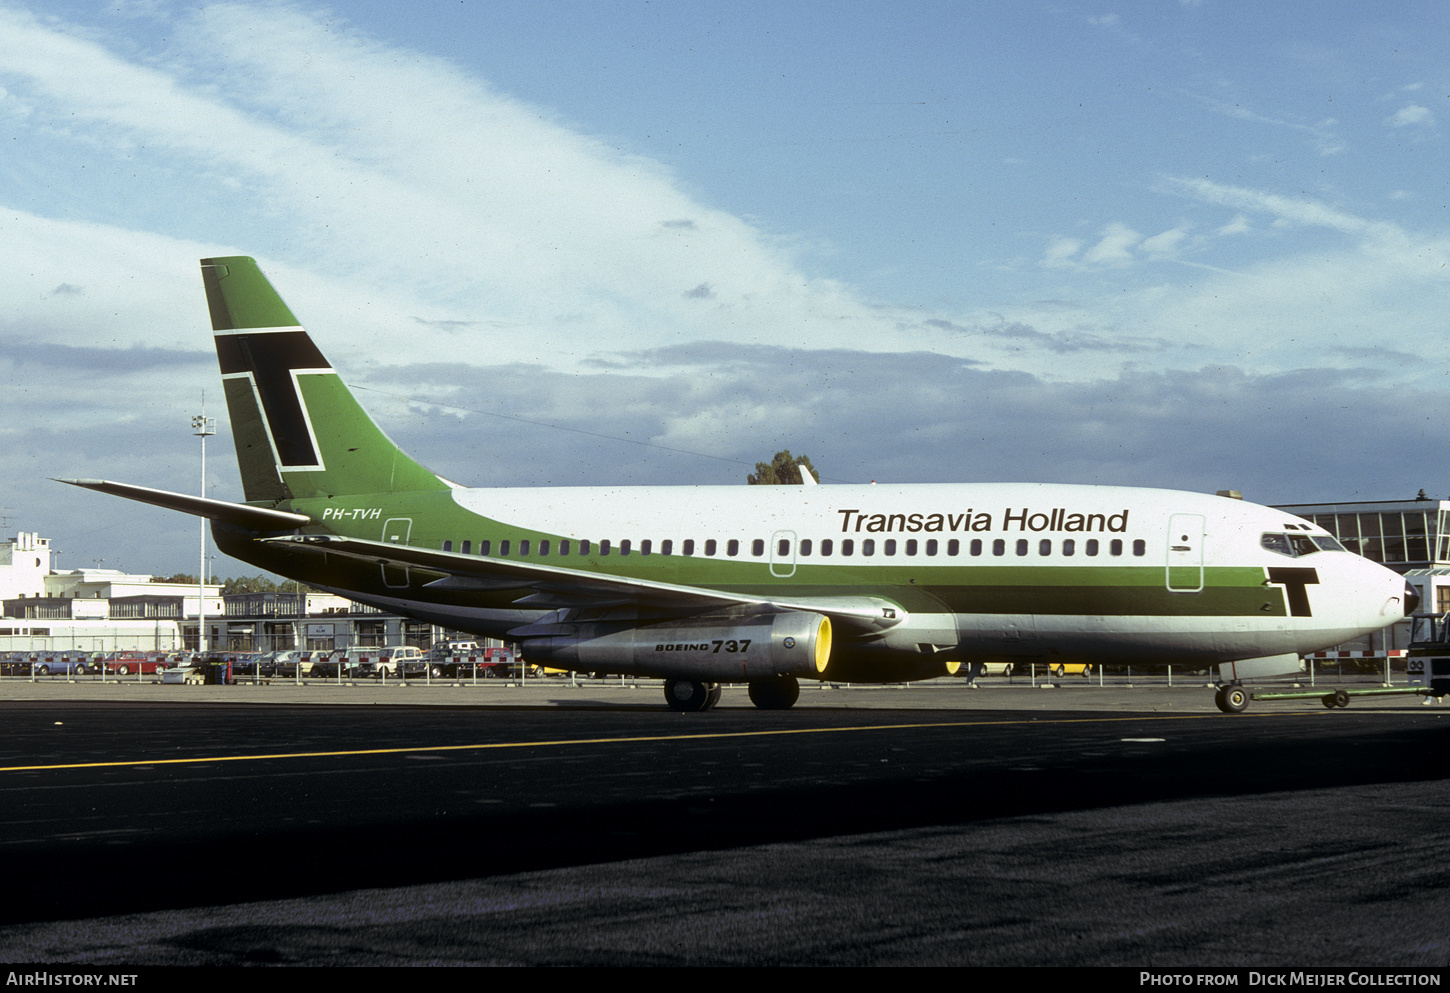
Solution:
<path fill-rule="evenodd" d="M 257 261 L 203 258 L 246 499 L 441 490 L 348 391 Z"/>

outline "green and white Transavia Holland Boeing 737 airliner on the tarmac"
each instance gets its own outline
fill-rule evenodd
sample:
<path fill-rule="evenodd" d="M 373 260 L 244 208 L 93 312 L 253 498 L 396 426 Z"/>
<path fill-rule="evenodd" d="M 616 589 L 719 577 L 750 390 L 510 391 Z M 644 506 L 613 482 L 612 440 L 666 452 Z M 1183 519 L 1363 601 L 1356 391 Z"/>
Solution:
<path fill-rule="evenodd" d="M 203 259 L 202 278 L 246 502 L 65 483 L 207 518 L 229 555 L 534 662 L 663 678 L 676 710 L 722 683 L 784 709 L 802 678 L 1037 660 L 1218 665 L 1238 712 L 1244 678 L 1418 603 L 1322 528 L 1198 493 L 463 487 L 378 431 L 255 261 Z"/>

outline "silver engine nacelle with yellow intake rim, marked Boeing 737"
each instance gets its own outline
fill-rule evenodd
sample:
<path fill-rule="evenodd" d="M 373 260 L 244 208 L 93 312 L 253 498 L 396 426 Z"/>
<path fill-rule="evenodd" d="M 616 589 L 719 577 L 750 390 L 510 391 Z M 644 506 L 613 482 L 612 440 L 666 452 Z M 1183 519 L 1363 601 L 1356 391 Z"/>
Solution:
<path fill-rule="evenodd" d="M 831 661 L 831 619 L 805 610 L 638 626 L 586 622 L 568 628 L 567 633 L 528 638 L 525 657 L 563 668 L 705 683 L 771 676 L 821 678 Z"/>

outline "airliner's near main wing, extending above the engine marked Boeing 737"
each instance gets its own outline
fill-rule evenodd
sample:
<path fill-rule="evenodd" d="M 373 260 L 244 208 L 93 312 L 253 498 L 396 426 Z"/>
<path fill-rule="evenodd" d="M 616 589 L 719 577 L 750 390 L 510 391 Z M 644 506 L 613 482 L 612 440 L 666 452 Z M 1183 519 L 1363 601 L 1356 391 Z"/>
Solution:
<path fill-rule="evenodd" d="M 760 607 L 764 610 L 813 610 L 857 632 L 884 631 L 906 619 L 906 610 L 871 596 L 842 597 L 767 597 L 697 586 L 657 583 L 626 576 L 608 576 L 508 558 L 463 555 L 412 545 L 394 545 L 342 535 L 286 535 L 264 538 L 267 544 L 287 545 L 293 551 L 319 555 L 345 555 L 394 568 L 439 573 L 428 583 L 444 590 L 528 589 L 515 600 L 523 607 L 555 609 L 564 606 L 609 606 L 637 603 L 645 607 L 689 613 L 722 607 Z"/>

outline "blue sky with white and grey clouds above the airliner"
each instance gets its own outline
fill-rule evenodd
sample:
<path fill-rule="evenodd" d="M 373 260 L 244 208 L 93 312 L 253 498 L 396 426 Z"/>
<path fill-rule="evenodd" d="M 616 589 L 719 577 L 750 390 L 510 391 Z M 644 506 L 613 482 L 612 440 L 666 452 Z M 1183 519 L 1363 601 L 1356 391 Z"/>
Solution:
<path fill-rule="evenodd" d="M 197 486 L 223 254 L 464 483 L 1450 494 L 1447 22 L 0 0 L 0 513 L 194 568 L 48 478 Z"/>

